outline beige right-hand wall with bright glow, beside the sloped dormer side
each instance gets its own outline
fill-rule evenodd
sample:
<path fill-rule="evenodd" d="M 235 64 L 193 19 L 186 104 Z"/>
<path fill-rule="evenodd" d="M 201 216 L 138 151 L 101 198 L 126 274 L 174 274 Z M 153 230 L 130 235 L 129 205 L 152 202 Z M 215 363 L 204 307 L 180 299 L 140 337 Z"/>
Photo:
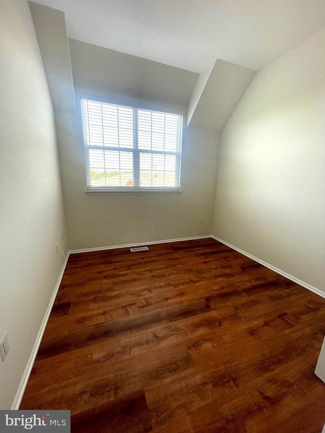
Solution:
<path fill-rule="evenodd" d="M 258 72 L 223 129 L 213 234 L 325 291 L 325 31 Z"/>

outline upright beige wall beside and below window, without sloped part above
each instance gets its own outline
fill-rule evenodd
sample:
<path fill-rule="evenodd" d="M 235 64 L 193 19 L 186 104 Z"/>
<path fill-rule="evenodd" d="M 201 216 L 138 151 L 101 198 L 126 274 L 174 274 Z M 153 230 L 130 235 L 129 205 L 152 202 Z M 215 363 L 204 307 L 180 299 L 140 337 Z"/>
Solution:
<path fill-rule="evenodd" d="M 80 108 L 77 113 L 56 113 L 56 121 L 72 249 L 211 234 L 217 161 L 214 134 L 184 128 L 183 192 L 98 195 L 85 192 Z"/>

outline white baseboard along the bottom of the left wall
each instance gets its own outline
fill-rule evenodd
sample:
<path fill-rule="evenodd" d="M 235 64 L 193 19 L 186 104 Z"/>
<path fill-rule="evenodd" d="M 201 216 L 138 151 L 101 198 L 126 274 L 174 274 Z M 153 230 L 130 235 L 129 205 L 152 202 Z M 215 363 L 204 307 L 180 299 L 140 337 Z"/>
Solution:
<path fill-rule="evenodd" d="M 18 410 L 19 409 L 19 406 L 20 406 L 20 403 L 21 403 L 21 399 L 22 399 L 22 397 L 24 395 L 25 388 L 26 388 L 26 385 L 27 385 L 27 382 L 28 382 L 28 379 L 29 379 L 29 376 L 30 376 L 30 372 L 31 372 L 32 366 L 34 365 L 34 361 L 35 361 L 37 352 L 39 350 L 39 347 L 40 347 L 40 344 L 41 344 L 41 341 L 42 341 L 42 337 L 43 337 L 43 334 L 44 334 L 44 331 L 45 331 L 45 327 L 47 325 L 47 321 L 48 321 L 48 319 L 50 317 L 50 314 L 51 314 L 51 310 L 52 310 L 52 307 L 53 307 L 53 304 L 54 304 L 54 301 L 55 301 L 55 297 L 56 297 L 57 291 L 58 291 L 58 289 L 60 287 L 60 284 L 61 284 L 61 280 L 62 280 L 62 277 L 63 277 L 64 270 L 66 269 L 66 265 L 67 265 L 67 262 L 68 262 L 68 259 L 69 259 L 69 255 L 70 255 L 70 252 L 68 251 L 66 259 L 63 262 L 63 266 L 62 266 L 59 278 L 57 280 L 57 283 L 55 285 L 54 291 L 52 293 L 49 305 L 47 307 L 45 316 L 43 318 L 43 321 L 42 321 L 39 333 L 38 333 L 38 335 L 36 337 L 34 347 L 32 348 L 32 351 L 30 353 L 30 356 L 29 356 L 29 359 L 28 359 L 28 362 L 27 362 L 24 374 L 23 374 L 23 376 L 21 378 L 21 381 L 20 381 L 20 384 L 19 384 L 16 396 L 15 396 L 15 399 L 14 399 L 14 403 L 12 404 L 11 410 Z"/>

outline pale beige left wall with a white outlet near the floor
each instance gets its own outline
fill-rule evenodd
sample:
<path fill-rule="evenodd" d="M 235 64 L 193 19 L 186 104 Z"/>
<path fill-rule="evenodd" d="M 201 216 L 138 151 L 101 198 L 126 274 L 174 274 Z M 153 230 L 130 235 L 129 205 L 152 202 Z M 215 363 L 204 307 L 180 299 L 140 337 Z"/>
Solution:
<path fill-rule="evenodd" d="M 0 2 L 0 409 L 10 409 L 54 290 L 65 235 L 52 104 L 27 0 Z"/>

